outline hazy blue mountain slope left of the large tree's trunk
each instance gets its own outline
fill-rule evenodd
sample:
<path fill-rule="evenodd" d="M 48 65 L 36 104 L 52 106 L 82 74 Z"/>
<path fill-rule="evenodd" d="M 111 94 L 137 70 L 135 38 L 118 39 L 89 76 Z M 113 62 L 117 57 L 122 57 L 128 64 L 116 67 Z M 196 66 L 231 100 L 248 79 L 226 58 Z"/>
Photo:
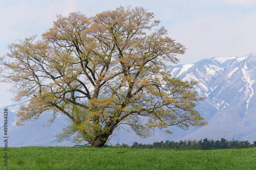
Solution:
<path fill-rule="evenodd" d="M 7 117 L 7 135 L 8 147 L 19 147 L 19 146 L 74 146 L 74 143 L 70 141 L 63 141 L 61 143 L 56 143 L 57 139 L 55 135 L 62 132 L 62 127 L 69 124 L 64 115 L 58 115 L 55 122 L 50 127 L 43 127 L 47 124 L 48 120 L 51 118 L 50 112 L 44 112 L 41 114 L 38 120 L 33 122 L 29 121 L 23 126 L 15 125 L 18 120 L 15 113 L 17 113 L 18 108 L 22 105 L 26 105 L 28 102 L 23 102 L 19 104 L 14 104 L 0 109 L 1 113 L 4 113 L 4 109 L 8 109 Z M 3 114 L 0 115 L 0 119 L 4 120 Z M 0 122 L 0 127 L 4 133 L 4 121 Z M 84 142 L 85 144 L 86 142 Z M 4 146 L 4 142 L 0 142 L 0 146 Z"/>

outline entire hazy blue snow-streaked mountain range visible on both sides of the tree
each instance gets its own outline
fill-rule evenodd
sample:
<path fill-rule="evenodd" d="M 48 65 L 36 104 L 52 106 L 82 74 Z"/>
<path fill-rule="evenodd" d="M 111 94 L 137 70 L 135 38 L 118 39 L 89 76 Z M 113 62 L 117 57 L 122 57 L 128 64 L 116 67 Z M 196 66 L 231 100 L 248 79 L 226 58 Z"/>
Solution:
<path fill-rule="evenodd" d="M 204 59 L 194 64 L 177 65 L 170 69 L 173 77 L 179 77 L 184 81 L 200 81 L 195 90 L 199 96 L 206 96 L 196 110 L 205 117 L 208 125 L 201 128 L 190 127 L 183 130 L 176 126 L 169 129 L 172 135 L 156 130 L 155 135 L 146 139 L 140 139 L 134 132 L 124 129 L 116 130 L 118 136 L 114 136 L 111 144 L 133 142 L 153 143 L 154 141 L 184 140 L 184 139 L 214 139 L 225 138 L 232 140 L 256 140 L 256 54 L 243 57 L 214 57 Z M 51 113 L 46 112 L 40 119 L 28 122 L 24 126 L 16 126 L 15 121 L 19 103 L 0 109 L 8 108 L 8 146 L 74 146 L 71 142 L 55 143 L 54 135 L 61 132 L 61 128 L 68 125 L 64 115 L 59 115 L 50 127 L 42 127 L 50 119 Z M 3 120 L 3 115 L 0 115 Z M 3 131 L 3 121 L 0 122 Z M 3 146 L 3 142 L 1 142 Z"/>

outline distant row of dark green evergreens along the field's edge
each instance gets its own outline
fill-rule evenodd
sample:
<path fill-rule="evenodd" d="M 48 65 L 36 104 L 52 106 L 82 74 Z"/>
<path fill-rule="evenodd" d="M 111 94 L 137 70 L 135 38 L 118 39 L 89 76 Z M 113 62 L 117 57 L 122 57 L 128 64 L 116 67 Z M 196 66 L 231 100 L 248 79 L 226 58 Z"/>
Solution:
<path fill-rule="evenodd" d="M 143 144 L 138 142 L 133 142 L 132 146 L 129 146 L 127 144 L 120 145 L 119 143 L 116 143 L 115 146 L 110 145 L 110 147 L 120 147 L 120 148 L 164 148 L 164 149 L 229 149 L 229 148 L 250 148 L 250 147 L 256 147 L 256 141 L 251 144 L 248 140 L 246 141 L 238 141 L 234 138 L 230 141 L 226 140 L 225 138 L 221 138 L 221 140 L 214 141 L 213 139 L 207 139 L 204 140 L 200 139 L 197 140 L 180 140 L 179 142 L 169 141 L 166 140 L 166 142 L 154 142 L 151 144 Z"/>

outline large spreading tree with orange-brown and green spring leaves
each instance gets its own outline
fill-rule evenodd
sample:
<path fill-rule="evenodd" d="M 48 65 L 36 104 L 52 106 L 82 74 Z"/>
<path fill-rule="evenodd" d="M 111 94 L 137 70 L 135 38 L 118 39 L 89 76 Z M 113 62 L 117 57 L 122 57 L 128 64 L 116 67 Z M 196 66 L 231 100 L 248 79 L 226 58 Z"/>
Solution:
<path fill-rule="evenodd" d="M 76 134 L 72 141 L 102 147 L 122 124 L 140 137 L 155 127 L 207 124 L 194 110 L 203 100 L 193 90 L 198 82 L 168 72 L 185 47 L 166 36 L 152 12 L 121 6 L 93 17 L 57 18 L 41 39 L 10 44 L 1 57 L 1 77 L 14 83 L 13 100 L 30 100 L 20 107 L 17 125 L 53 111 L 50 124 L 58 114 L 72 122 L 57 135 L 60 141 Z"/>

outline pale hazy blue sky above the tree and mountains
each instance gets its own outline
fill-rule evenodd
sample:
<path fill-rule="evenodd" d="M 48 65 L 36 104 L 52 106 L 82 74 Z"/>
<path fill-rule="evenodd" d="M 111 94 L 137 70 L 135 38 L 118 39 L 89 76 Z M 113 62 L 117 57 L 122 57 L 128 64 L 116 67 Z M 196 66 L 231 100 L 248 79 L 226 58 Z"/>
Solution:
<path fill-rule="evenodd" d="M 188 48 L 184 55 L 177 56 L 180 64 L 256 52 L 255 0 L 1 0 L 0 55 L 8 52 L 8 43 L 44 33 L 52 27 L 57 14 L 81 11 L 90 16 L 120 5 L 143 6 L 154 12 L 168 36 Z M 12 104 L 12 94 L 7 91 L 11 86 L 0 83 L 0 108 Z"/>

